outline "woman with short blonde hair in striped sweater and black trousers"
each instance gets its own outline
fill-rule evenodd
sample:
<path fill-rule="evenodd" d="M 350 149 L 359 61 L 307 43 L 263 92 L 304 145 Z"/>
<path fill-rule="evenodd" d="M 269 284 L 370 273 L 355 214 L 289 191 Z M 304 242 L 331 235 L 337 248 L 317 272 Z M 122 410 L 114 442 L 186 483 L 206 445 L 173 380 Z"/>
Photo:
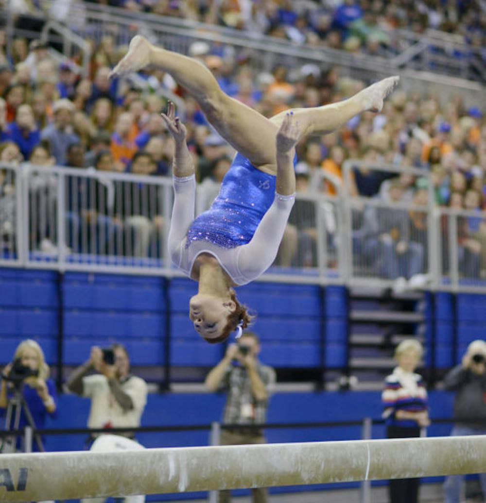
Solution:
<path fill-rule="evenodd" d="M 414 373 L 423 354 L 415 339 L 405 339 L 395 349 L 398 366 L 386 377 L 381 395 L 387 438 L 420 437 L 430 425 L 424 379 Z M 390 480 L 390 503 L 417 503 L 419 483 L 418 478 Z"/>

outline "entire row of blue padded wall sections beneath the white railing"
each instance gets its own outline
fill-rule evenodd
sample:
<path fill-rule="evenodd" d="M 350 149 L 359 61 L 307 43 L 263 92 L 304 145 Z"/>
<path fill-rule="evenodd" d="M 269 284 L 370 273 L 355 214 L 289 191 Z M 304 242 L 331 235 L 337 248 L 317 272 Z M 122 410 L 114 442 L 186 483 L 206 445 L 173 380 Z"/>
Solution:
<path fill-rule="evenodd" d="M 197 284 L 177 278 L 66 273 L 58 298 L 60 276 L 50 271 L 0 269 L 0 364 L 7 363 L 18 343 L 37 340 L 49 364 L 57 360 L 59 305 L 63 304 L 63 359 L 85 361 L 92 345 L 125 344 L 134 365 L 164 364 L 166 337 L 171 337 L 174 366 L 215 365 L 224 346 L 197 338 L 188 318 L 188 301 Z M 167 286 L 169 287 L 167 289 Z M 166 305 L 168 290 L 170 312 Z M 346 365 L 348 298 L 343 286 L 257 283 L 238 288 L 241 302 L 257 317 L 252 329 L 265 341 L 262 360 L 275 367 L 317 367 L 325 335 L 327 368 Z M 426 359 L 432 361 L 432 296 L 426 304 Z M 324 312 L 323 312 L 324 311 Z M 467 345 L 484 338 L 486 296 L 435 294 L 435 362 L 448 368 L 460 361 Z M 171 333 L 166 333 L 170 316 Z M 455 326 L 457 321 L 457 341 Z M 360 331 L 359 324 L 354 329 Z M 373 331 L 366 324 L 366 331 Z M 376 329 L 380 327 L 377 325 Z M 456 344 L 457 343 L 457 344 Z"/>

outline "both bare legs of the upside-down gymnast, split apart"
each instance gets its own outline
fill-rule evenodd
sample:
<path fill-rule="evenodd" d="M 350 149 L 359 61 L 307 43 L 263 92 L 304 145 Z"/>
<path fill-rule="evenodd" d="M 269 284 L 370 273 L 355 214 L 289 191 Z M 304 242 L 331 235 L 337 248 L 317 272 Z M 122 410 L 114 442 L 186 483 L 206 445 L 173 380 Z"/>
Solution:
<path fill-rule="evenodd" d="M 133 37 L 127 54 L 112 74 L 137 71 L 149 64 L 170 73 L 198 102 L 220 135 L 238 152 L 262 171 L 275 174 L 275 136 L 284 115 L 267 119 L 226 95 L 211 71 L 196 59 L 155 47 L 140 35 Z M 304 128 L 304 134 L 331 132 L 365 110 L 380 110 L 383 99 L 397 82 L 398 77 L 389 77 L 348 100 L 313 109 L 296 109 L 294 113 Z"/>

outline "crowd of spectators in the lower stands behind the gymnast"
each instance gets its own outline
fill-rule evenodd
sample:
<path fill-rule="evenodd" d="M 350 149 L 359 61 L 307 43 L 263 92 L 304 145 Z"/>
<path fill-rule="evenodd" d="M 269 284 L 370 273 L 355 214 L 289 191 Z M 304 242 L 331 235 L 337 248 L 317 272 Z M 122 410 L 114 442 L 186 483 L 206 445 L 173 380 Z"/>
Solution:
<path fill-rule="evenodd" d="M 0 99 L 0 160 L 24 159 L 78 169 L 91 166 L 105 172 L 170 176 L 173 144 L 159 112 L 166 106 L 164 96 L 180 96 L 185 107 L 181 113 L 188 128 L 188 144 L 204 201 L 199 209 L 205 209 L 217 194 L 234 152 L 169 75 L 149 69 L 141 72 L 136 81 L 109 80 L 110 68 L 125 50 L 116 47 L 114 40 L 111 36 L 100 40 L 93 52 L 90 74 L 86 76 L 81 74 L 75 61 L 54 62 L 48 48 L 38 40 L 30 43 L 21 38 L 13 40 L 11 59 L 4 58 L 0 63 L 3 97 Z M 0 37 L 2 41 L 0 58 L 6 53 L 5 37 Z M 267 117 L 289 108 L 333 103 L 369 83 L 341 76 L 336 68 L 311 64 L 294 71 L 276 66 L 272 72 L 262 72 L 255 70 L 251 56 L 239 58 L 235 54 L 231 59 L 212 51 L 205 43 L 194 43 L 190 53 L 211 69 L 227 94 Z M 335 194 L 336 185 L 323 182 L 322 173 L 333 176 L 339 184 L 341 165 L 348 158 L 413 166 L 431 173 L 437 205 L 478 212 L 478 218 L 463 218 L 459 222 L 459 260 L 462 274 L 484 275 L 486 224 L 480 212 L 486 194 L 486 125 L 481 105 L 465 106 L 459 95 L 446 101 L 434 94 L 398 90 L 380 114 L 362 114 L 336 133 L 303 141 L 298 147 L 296 166 L 298 190 Z M 2 186 L 0 212 L 7 214 L 3 218 L 6 221 L 9 211 L 14 211 L 14 204 L 12 188 L 5 181 Z M 379 198 L 385 203 L 428 203 L 425 178 L 402 176 L 389 180 L 385 173 L 358 167 L 352 177 L 351 193 Z M 76 209 L 70 208 L 70 211 L 76 212 Z M 425 213 L 407 214 L 397 209 L 397 219 L 403 217 L 410 221 L 402 228 L 395 225 L 391 215 L 383 219 L 379 209 L 374 211 L 375 215 L 371 210 L 370 215 L 366 211 L 357 212 L 353 222 L 355 249 L 360 251 L 363 264 L 389 278 L 412 276 L 426 270 L 428 221 Z M 377 211 L 378 218 L 375 218 Z M 120 220 L 133 227 L 132 234 L 138 233 L 138 242 L 132 251 L 136 256 L 144 256 L 151 236 L 162 229 L 163 219 L 157 208 L 151 215 L 145 215 L 150 221 L 142 223 L 131 218 L 140 216 L 140 212 L 129 213 L 124 211 Z M 285 253 L 280 256 L 282 265 L 293 265 L 297 259 L 298 265 L 316 264 L 315 216 L 304 220 L 291 219 L 284 239 Z M 370 228 L 369 222 L 373 224 Z M 79 222 L 76 225 L 79 226 Z M 98 225 L 106 228 L 106 222 Z M 335 249 L 337 243 L 332 234 L 336 222 L 326 219 L 326 225 L 329 246 Z M 447 218 L 443 228 L 443 244 L 447 249 Z M 106 230 L 104 240 L 116 232 L 116 228 Z M 407 245 L 410 241 L 418 246 Z M 159 248 L 152 249 L 156 253 Z M 307 250 L 307 254 L 300 253 L 302 249 Z M 375 260 L 377 255 L 380 263 Z M 443 259 L 443 266 L 445 271 L 449 270 L 447 257 Z"/>

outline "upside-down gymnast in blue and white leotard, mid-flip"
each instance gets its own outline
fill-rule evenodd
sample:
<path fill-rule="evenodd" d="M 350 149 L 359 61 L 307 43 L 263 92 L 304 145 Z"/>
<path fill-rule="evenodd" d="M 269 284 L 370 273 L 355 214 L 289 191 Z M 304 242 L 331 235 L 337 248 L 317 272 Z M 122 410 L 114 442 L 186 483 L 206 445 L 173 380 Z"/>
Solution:
<path fill-rule="evenodd" d="M 169 230 L 172 262 L 199 283 L 189 301 L 195 330 L 209 343 L 225 341 L 251 321 L 233 287 L 253 281 L 272 264 L 295 200 L 295 145 L 326 134 L 364 111 L 379 112 L 398 83 L 388 77 L 339 103 L 294 109 L 267 119 L 227 96 L 196 59 L 156 47 L 136 35 L 111 75 L 148 65 L 171 74 L 199 104 L 207 120 L 238 152 L 208 211 L 194 219 L 194 165 L 186 129 L 173 104 L 162 114 L 175 140 L 174 207 Z"/>

